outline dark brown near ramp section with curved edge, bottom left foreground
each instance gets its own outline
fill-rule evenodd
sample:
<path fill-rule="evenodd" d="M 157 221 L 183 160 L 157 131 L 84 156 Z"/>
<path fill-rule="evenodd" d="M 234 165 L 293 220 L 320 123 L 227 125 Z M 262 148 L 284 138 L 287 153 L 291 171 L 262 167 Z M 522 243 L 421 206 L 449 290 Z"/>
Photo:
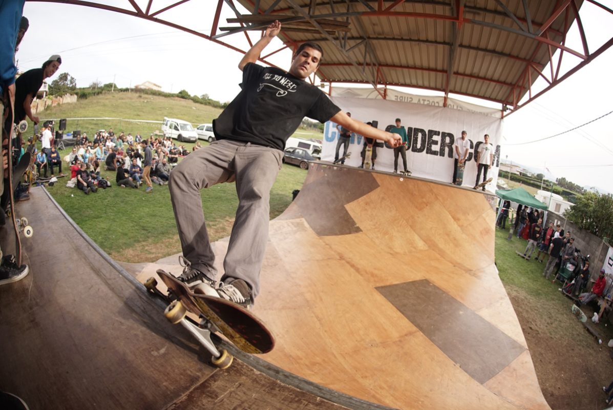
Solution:
<path fill-rule="evenodd" d="M 241 355 L 226 370 L 43 188 L 18 204 L 30 273 L 0 286 L 0 390 L 31 409 L 371 409 L 364 400 Z M 0 228 L 3 248 L 6 225 Z M 118 234 L 120 232 L 118 231 Z M 6 248 L 4 248 L 6 249 Z"/>

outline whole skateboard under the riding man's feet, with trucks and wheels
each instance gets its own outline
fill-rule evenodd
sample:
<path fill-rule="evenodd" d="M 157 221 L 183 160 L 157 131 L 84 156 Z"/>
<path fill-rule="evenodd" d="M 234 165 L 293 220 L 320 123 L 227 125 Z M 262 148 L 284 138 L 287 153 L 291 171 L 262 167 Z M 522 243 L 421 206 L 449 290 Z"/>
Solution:
<path fill-rule="evenodd" d="M 200 287 L 192 291 L 162 269 L 158 269 L 157 273 L 168 287 L 168 295 L 157 288 L 158 281 L 154 277 L 145 282 L 147 291 L 169 303 L 164 311 L 166 318 L 172 323 L 181 323 L 213 355 L 213 365 L 225 369 L 232 364 L 233 357 L 225 349 L 218 350 L 211 341 L 211 332 L 220 333 L 238 349 L 249 354 L 267 353 L 275 347 L 275 338 L 270 330 L 247 309 L 223 298 L 204 295 Z M 188 312 L 199 317 L 197 325 L 188 320 Z"/>

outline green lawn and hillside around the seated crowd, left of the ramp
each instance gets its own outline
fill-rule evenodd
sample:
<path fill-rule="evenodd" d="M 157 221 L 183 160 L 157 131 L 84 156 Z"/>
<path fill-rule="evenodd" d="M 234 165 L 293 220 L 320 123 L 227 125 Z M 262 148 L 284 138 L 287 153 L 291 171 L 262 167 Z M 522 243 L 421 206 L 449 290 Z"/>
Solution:
<path fill-rule="evenodd" d="M 180 98 L 115 93 L 53 107 L 40 118 L 124 117 L 158 119 L 178 117 L 193 123 L 211 122 L 221 110 L 194 104 Z M 159 129 L 151 123 L 118 121 L 69 121 L 68 130 L 80 129 L 89 136 L 93 131 L 113 127 L 114 131 L 143 136 Z M 201 142 L 207 145 L 205 142 Z M 194 144 L 185 144 L 191 150 Z M 66 155 L 62 152 L 62 156 Z M 115 182 L 115 173 L 103 171 L 102 176 Z M 291 203 L 292 191 L 300 189 L 306 171 L 284 165 L 273 186 L 270 199 L 270 217 L 275 218 Z M 130 188 L 113 186 L 96 195 L 85 196 L 76 189 L 66 188 L 66 178 L 48 188 L 51 195 L 79 226 L 113 258 L 121 261 L 153 261 L 180 252 L 177 228 L 170 204 L 168 187 L 155 187 L 145 195 Z M 202 206 L 207 216 L 211 239 L 230 234 L 238 201 L 234 184 L 215 185 L 202 191 Z"/>

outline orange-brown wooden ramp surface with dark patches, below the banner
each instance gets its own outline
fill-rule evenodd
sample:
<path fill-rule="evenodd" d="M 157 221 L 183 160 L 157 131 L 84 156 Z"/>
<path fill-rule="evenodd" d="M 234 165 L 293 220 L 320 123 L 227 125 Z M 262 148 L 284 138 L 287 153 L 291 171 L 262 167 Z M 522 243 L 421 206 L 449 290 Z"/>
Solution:
<path fill-rule="evenodd" d="M 254 310 L 277 340 L 264 359 L 392 408 L 549 409 L 494 265 L 494 199 L 313 164 L 271 222 Z"/>

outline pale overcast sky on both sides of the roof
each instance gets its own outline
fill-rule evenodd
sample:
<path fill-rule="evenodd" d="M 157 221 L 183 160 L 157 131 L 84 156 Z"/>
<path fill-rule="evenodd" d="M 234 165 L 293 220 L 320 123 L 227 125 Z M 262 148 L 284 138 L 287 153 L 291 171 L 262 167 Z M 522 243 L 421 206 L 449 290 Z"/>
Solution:
<path fill-rule="evenodd" d="M 146 2 L 137 2 L 146 7 Z M 105 3 L 126 7 L 128 1 Z M 158 3 L 154 1 L 161 7 Z M 208 34 L 215 4 L 191 1 L 161 17 Z M 226 7 L 220 26 L 228 25 L 226 17 L 234 17 L 229 13 Z M 59 53 L 63 64 L 58 74 L 69 72 L 77 79 L 78 87 L 94 81 L 115 80 L 119 87 L 151 81 L 161 85 L 164 91 L 176 93 L 185 89 L 192 95 L 208 94 L 222 102 L 230 101 L 239 91 L 241 72 L 237 64 L 242 55 L 192 34 L 115 12 L 66 4 L 26 2 L 24 15 L 30 21 L 30 28 L 17 54 L 20 70 L 39 67 L 48 56 Z M 582 6 L 581 16 L 590 52 L 593 52 L 611 37 L 613 17 L 588 2 Z M 575 30 L 571 28 L 571 33 Z M 253 41 L 258 35 L 251 34 Z M 224 40 L 239 48 L 248 48 L 245 36 L 240 34 Z M 581 50 L 576 42 L 567 45 Z M 267 51 L 281 46 L 280 41 L 275 41 Z M 286 50 L 269 60 L 281 68 L 289 68 L 290 59 L 291 53 Z M 574 65 L 577 60 L 563 61 Z M 553 136 L 613 111 L 612 67 L 613 50 L 609 49 L 544 96 L 509 115 L 504 120 L 502 158 L 535 169 L 547 168 L 552 176 L 613 193 L 613 114 L 563 136 L 533 144 L 510 145 Z M 544 80 L 539 79 L 535 88 L 538 90 L 543 84 Z M 481 104 L 491 106 L 487 102 Z"/>

